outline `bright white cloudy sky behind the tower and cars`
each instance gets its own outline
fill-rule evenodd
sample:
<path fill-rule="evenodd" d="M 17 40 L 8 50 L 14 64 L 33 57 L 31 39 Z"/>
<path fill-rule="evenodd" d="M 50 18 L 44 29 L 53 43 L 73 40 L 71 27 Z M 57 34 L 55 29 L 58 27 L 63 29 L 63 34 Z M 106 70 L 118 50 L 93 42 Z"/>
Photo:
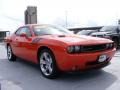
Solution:
<path fill-rule="evenodd" d="M 24 25 L 27 6 L 37 6 L 38 23 L 67 28 L 116 25 L 120 19 L 119 0 L 0 0 L 0 30 Z"/>

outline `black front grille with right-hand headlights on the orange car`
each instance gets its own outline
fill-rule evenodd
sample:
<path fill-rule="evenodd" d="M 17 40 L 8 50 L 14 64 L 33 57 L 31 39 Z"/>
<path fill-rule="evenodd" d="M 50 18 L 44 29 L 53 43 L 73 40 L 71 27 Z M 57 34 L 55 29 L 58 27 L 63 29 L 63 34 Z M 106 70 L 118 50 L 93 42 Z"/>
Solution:
<path fill-rule="evenodd" d="M 113 43 L 111 43 L 111 46 L 108 46 L 108 44 L 87 45 L 87 46 L 81 46 L 81 52 L 104 51 L 104 50 L 112 49 L 113 47 L 114 47 Z"/>

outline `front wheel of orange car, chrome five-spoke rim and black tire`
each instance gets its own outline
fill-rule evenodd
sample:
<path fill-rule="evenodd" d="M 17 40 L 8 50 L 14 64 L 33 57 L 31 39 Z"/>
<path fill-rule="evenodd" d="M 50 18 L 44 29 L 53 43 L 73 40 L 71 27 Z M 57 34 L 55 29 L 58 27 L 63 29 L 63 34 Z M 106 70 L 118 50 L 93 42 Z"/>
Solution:
<path fill-rule="evenodd" d="M 44 77 L 48 79 L 57 78 L 58 69 L 55 57 L 49 49 L 43 49 L 39 53 L 39 68 Z"/>

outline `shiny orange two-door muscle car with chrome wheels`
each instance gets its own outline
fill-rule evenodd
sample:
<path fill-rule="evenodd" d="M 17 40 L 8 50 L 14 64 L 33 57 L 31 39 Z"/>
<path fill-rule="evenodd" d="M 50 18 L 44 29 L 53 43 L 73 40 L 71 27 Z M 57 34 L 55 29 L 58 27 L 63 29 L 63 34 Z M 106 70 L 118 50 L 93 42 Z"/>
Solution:
<path fill-rule="evenodd" d="M 115 54 L 111 40 L 77 36 L 51 25 L 29 24 L 5 38 L 9 61 L 16 57 L 36 63 L 42 75 L 54 78 L 58 71 L 79 71 L 107 66 Z"/>

